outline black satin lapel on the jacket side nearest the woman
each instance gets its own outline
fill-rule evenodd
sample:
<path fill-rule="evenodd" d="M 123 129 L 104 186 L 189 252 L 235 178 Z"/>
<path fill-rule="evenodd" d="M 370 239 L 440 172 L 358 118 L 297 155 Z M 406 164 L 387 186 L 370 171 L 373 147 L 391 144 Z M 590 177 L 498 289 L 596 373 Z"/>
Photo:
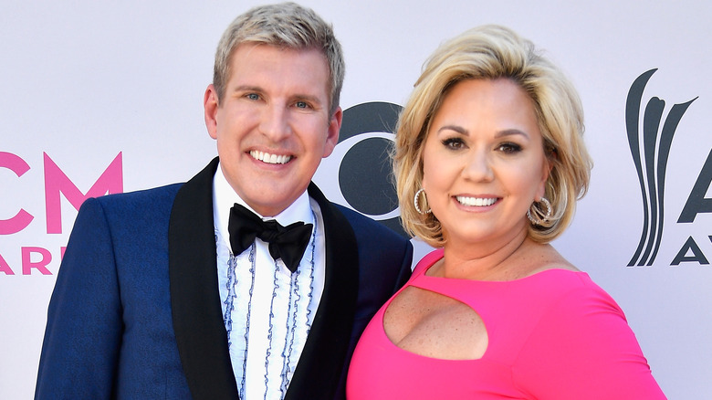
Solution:
<path fill-rule="evenodd" d="M 286 400 L 334 398 L 349 349 L 359 289 L 359 254 L 349 221 L 315 184 L 309 185 L 309 196 L 317 201 L 324 218 L 326 279 Z"/>

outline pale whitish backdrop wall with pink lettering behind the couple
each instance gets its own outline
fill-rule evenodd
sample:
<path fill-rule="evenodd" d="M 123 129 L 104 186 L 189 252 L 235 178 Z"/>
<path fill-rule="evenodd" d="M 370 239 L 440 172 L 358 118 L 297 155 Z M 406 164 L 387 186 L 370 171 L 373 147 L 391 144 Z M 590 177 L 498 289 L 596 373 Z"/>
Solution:
<path fill-rule="evenodd" d="M 34 392 L 47 301 L 77 215 L 72 202 L 105 170 L 95 191 L 131 191 L 184 181 L 215 155 L 202 110 L 215 46 L 225 26 L 256 4 L 0 1 L 0 398 Z M 344 109 L 403 104 L 424 58 L 471 26 L 507 25 L 545 48 L 580 90 L 595 162 L 591 191 L 554 245 L 620 303 L 669 398 L 712 398 L 709 2 L 303 4 L 334 24 L 345 49 Z M 633 80 L 653 68 L 641 113 L 657 97 L 665 121 L 674 104 L 696 100 L 664 165 L 659 252 L 651 266 L 627 267 L 644 201 L 625 104 Z M 316 177 L 334 199 L 343 153 Z M 700 213 L 678 223 L 698 180 Z M 417 249 L 416 257 L 427 251 Z"/>

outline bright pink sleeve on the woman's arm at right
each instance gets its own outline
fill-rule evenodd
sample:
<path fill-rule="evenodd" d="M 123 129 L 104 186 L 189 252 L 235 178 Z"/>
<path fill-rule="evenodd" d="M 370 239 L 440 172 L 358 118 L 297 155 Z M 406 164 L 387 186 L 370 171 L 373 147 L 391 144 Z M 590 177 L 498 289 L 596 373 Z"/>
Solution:
<path fill-rule="evenodd" d="M 512 367 L 521 390 L 535 398 L 664 399 L 615 300 L 585 273 L 547 275 L 539 290 L 550 300 Z"/>

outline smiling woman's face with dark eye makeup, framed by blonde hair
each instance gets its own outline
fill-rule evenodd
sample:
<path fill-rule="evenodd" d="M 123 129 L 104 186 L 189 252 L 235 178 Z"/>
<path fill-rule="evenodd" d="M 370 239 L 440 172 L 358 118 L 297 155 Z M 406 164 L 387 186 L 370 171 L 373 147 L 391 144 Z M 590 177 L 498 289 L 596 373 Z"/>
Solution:
<path fill-rule="evenodd" d="M 532 100 L 513 81 L 449 90 L 423 153 L 423 188 L 449 243 L 506 243 L 527 230 L 549 175 L 542 141 Z"/>

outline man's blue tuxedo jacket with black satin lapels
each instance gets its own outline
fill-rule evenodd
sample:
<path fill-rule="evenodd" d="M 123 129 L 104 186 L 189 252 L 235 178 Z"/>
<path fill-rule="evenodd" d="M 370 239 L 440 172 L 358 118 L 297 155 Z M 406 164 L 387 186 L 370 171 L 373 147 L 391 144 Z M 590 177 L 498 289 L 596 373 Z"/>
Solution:
<path fill-rule="evenodd" d="M 49 302 L 37 399 L 236 399 L 217 286 L 213 175 L 87 200 Z M 410 242 L 314 184 L 326 282 L 287 399 L 344 398 L 353 348 L 410 276 Z M 265 311 L 267 312 L 267 311 Z"/>

